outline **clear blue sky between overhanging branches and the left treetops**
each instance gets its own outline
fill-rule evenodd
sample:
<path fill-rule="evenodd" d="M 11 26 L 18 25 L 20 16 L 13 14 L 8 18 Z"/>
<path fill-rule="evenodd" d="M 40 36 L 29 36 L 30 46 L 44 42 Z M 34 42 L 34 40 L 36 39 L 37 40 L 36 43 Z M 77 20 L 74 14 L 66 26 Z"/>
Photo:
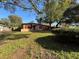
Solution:
<path fill-rule="evenodd" d="M 77 0 L 79 3 L 79 0 Z M 40 5 L 41 7 L 41 5 Z M 15 13 L 11 13 L 3 8 L 0 8 L 0 19 L 7 18 L 9 15 L 18 15 L 22 17 L 23 23 L 36 22 L 36 13 L 33 11 L 23 11 L 20 8 L 17 8 Z"/>

